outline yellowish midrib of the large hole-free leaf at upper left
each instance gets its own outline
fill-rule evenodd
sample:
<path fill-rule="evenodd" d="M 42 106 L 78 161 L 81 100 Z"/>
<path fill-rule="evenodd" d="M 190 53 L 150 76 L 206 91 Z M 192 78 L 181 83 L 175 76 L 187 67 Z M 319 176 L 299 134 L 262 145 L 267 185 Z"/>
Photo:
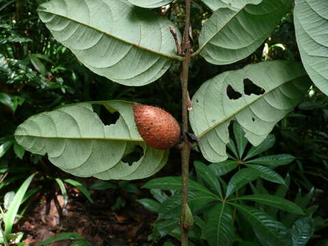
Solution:
<path fill-rule="evenodd" d="M 53 12 L 49 12 L 49 11 L 46 11 L 46 10 L 42 10 L 42 9 L 40 9 L 40 8 L 38 8 L 37 11 L 38 11 L 38 12 L 46 12 L 46 13 L 49 13 L 49 14 L 53 14 L 53 15 L 55 15 L 55 16 L 59 16 L 59 17 L 61 17 L 61 18 L 66 18 L 67 20 L 73 21 L 74 23 L 77 23 L 77 24 L 79 24 L 79 25 L 84 25 L 85 27 L 88 27 L 88 28 L 90 28 L 90 29 L 94 29 L 95 31 L 98 31 L 98 32 L 100 32 L 100 33 L 103 33 L 103 34 L 105 34 L 105 35 L 111 37 L 111 38 L 114 38 L 114 39 L 116 39 L 116 40 L 119 40 L 120 42 L 124 42 L 124 43 L 126 43 L 126 44 L 130 44 L 131 46 L 135 46 L 136 48 L 138 48 L 138 49 L 142 49 L 143 51 L 148 51 L 148 52 L 150 52 L 150 53 L 154 53 L 154 54 L 156 54 L 156 55 L 160 55 L 160 56 L 162 56 L 162 57 L 167 57 L 167 58 L 169 58 L 169 59 L 175 59 L 175 60 L 178 60 L 178 61 L 183 61 L 183 57 L 180 57 L 179 55 L 169 55 L 169 54 L 161 53 L 161 52 L 159 52 L 159 51 L 154 51 L 154 50 L 152 50 L 152 49 L 148 49 L 148 48 L 146 48 L 146 47 L 140 46 L 139 44 L 135 44 L 135 43 L 133 43 L 133 42 L 128 42 L 127 40 L 123 40 L 122 38 L 118 38 L 118 37 L 116 37 L 116 36 L 113 36 L 112 34 L 107 33 L 107 32 L 105 32 L 105 31 L 102 31 L 102 30 L 100 30 L 100 29 L 98 29 L 98 28 L 96 28 L 96 27 L 92 27 L 92 26 L 87 25 L 87 24 L 85 24 L 85 23 L 81 23 L 81 22 L 79 22 L 78 20 L 74 20 L 74 19 L 72 19 L 72 18 L 69 18 L 68 16 L 63 16 L 63 15 L 61 15 L 61 14 L 55 14 L 55 13 L 53 13 Z"/>

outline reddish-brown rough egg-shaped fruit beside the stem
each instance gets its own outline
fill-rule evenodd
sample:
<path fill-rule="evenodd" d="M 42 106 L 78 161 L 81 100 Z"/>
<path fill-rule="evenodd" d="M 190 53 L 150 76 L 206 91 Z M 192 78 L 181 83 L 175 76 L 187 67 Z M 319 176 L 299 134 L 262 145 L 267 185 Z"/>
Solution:
<path fill-rule="evenodd" d="M 133 103 L 135 124 L 143 140 L 153 148 L 171 148 L 180 139 L 180 126 L 176 119 L 159 107 Z"/>

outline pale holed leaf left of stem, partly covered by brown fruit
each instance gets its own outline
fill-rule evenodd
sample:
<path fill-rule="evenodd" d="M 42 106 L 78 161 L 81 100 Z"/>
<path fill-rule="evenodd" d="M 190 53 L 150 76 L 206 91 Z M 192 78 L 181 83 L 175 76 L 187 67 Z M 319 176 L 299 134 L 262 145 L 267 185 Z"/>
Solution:
<path fill-rule="evenodd" d="M 120 118 L 106 126 L 92 109 L 103 105 Z M 157 150 L 141 139 L 135 126 L 131 102 L 120 100 L 82 102 L 33 115 L 15 132 L 16 141 L 35 154 L 48 154 L 49 161 L 75 176 L 102 180 L 146 178 L 165 165 L 168 150 Z M 143 155 L 132 165 L 124 163 L 136 146 Z"/>

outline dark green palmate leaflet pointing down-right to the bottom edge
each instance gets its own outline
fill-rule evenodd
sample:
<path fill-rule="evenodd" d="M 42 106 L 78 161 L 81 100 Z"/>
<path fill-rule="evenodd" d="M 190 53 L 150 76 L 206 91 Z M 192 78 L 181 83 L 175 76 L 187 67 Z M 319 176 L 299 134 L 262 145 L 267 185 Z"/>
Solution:
<path fill-rule="evenodd" d="M 236 207 L 251 224 L 262 246 L 290 246 L 291 235 L 280 222 L 266 215 L 261 210 L 241 204 L 231 204 Z"/>

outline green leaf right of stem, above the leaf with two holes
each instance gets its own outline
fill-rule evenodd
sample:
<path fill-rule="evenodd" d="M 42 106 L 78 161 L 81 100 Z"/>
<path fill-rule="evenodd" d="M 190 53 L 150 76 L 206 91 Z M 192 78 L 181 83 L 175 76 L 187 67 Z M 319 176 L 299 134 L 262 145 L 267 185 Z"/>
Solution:
<path fill-rule="evenodd" d="M 268 38 L 290 8 L 290 0 L 264 0 L 244 8 L 219 8 L 200 33 L 200 53 L 206 61 L 231 64 L 251 55 Z"/>

